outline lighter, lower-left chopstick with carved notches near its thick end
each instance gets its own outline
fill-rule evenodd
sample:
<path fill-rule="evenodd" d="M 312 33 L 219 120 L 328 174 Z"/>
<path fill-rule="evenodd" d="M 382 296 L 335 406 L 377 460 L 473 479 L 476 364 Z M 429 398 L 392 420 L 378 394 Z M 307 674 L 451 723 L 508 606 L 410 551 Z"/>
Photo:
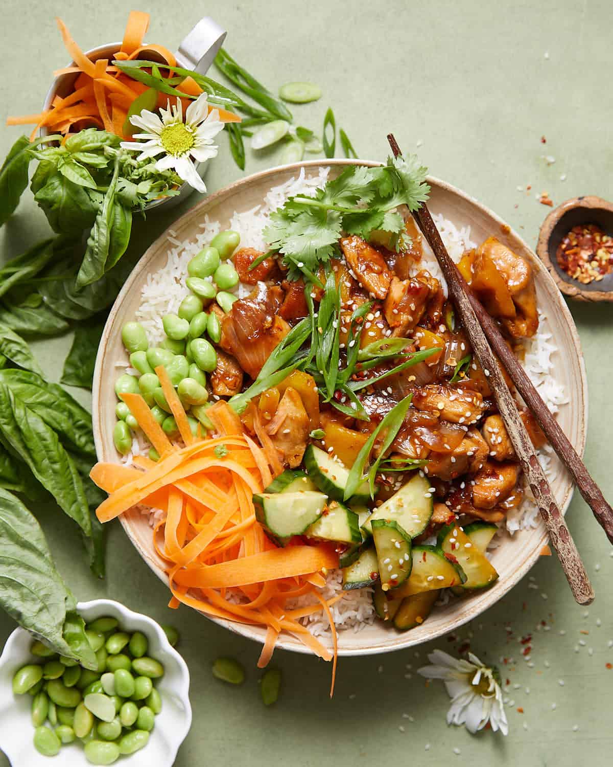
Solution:
<path fill-rule="evenodd" d="M 398 143 L 396 143 L 392 133 L 388 135 L 388 142 L 392 147 L 392 153 L 394 153 L 395 157 L 401 154 Z M 526 475 L 529 487 L 533 492 L 536 505 L 546 524 L 552 546 L 556 550 L 566 579 L 569 581 L 572 594 L 579 604 L 591 604 L 594 599 L 594 591 L 592 584 L 589 582 L 588 574 L 585 571 L 585 566 L 579 556 L 579 551 L 572 539 L 569 528 L 566 526 L 564 517 L 553 498 L 551 488 L 543 469 L 541 469 L 539 459 L 536 457 L 533 444 L 526 432 L 526 427 L 520 418 L 513 395 L 506 385 L 497 358 L 493 354 L 487 337 L 481 328 L 480 321 L 470 303 L 467 291 L 462 282 L 457 278 L 456 265 L 447 253 L 441 235 L 432 220 L 428 206 L 423 204 L 420 209 L 413 213 L 413 216 L 441 266 L 441 270 L 447 280 L 447 289 L 460 314 L 470 344 L 473 347 L 474 353 L 477 354 L 485 375 L 489 379 L 498 410 L 503 418 L 523 472 Z"/>

